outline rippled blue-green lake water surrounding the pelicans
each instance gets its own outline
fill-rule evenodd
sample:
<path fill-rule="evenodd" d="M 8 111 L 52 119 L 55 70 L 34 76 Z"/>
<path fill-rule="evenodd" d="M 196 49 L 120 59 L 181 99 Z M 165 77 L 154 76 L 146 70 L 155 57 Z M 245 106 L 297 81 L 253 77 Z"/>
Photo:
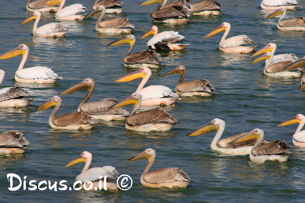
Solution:
<path fill-rule="evenodd" d="M 34 21 L 19 25 L 31 12 L 27 12 L 26 0 L 0 2 L 0 47 L 5 53 L 20 44 L 30 48 L 26 67 L 35 65 L 52 68 L 63 80 L 56 84 L 21 84 L 14 75 L 21 56 L 2 59 L 0 69 L 6 74 L 2 87 L 24 86 L 35 99 L 29 107 L 1 108 L 0 131 L 19 130 L 29 140 L 32 149 L 24 155 L 0 155 L 0 202 L 261 202 L 304 201 L 305 155 L 304 148 L 291 149 L 286 163 L 267 162 L 255 164 L 249 156 L 228 156 L 213 152 L 210 143 L 216 131 L 196 137 L 185 137 L 190 131 L 214 118 L 226 121 L 223 137 L 254 128 L 263 129 L 268 140 L 285 138 L 292 146 L 292 135 L 297 125 L 277 128 L 281 122 L 305 113 L 304 90 L 297 90 L 300 78 L 273 78 L 263 74 L 263 63 L 249 65 L 251 54 L 226 54 L 218 43 L 223 33 L 202 38 L 223 22 L 231 23 L 228 37 L 247 34 L 258 47 L 270 42 L 278 45 L 277 54 L 305 55 L 304 33 L 283 32 L 276 28 L 277 18 L 265 19 L 270 11 L 260 9 L 259 0 L 219 0 L 226 10 L 221 16 L 192 16 L 186 25 L 152 23 L 150 13 L 157 5 L 140 6 L 141 0 L 125 0 L 124 14 L 106 15 L 106 18 L 124 17 L 135 25 L 134 52 L 147 50 L 147 41 L 139 38 L 157 25 L 160 31 L 175 30 L 185 36 L 188 50 L 157 51 L 167 67 L 154 69 L 148 85 L 166 85 L 175 89 L 179 76 L 161 75 L 177 67 L 187 67 L 186 80 L 208 79 L 217 94 L 211 97 L 181 97 L 177 107 L 166 110 L 180 125 L 169 132 L 134 132 L 125 129 L 121 121 L 99 122 L 92 130 L 63 131 L 49 128 L 48 119 L 53 108 L 35 109 L 52 96 L 81 82 L 95 79 L 95 92 L 89 101 L 103 98 L 121 100 L 133 93 L 140 79 L 114 83 L 116 79 L 137 70 L 123 66 L 122 58 L 128 45 L 105 47 L 124 35 L 107 35 L 95 32 L 97 16 L 84 21 L 61 21 L 69 32 L 63 38 L 34 37 Z M 67 1 L 67 5 L 82 3 L 91 10 L 93 1 Z M 299 5 L 305 6 L 304 2 Z M 287 17 L 304 16 L 304 9 L 289 11 Z M 54 13 L 43 13 L 38 26 L 57 22 Z M 58 115 L 77 110 L 86 90 L 63 95 Z M 128 110 L 132 106 L 127 107 Z M 145 108 L 141 108 L 145 109 Z M 195 182 L 177 190 L 147 188 L 140 184 L 146 160 L 127 162 L 126 159 L 147 148 L 156 150 L 152 170 L 163 167 L 182 168 Z M 50 180 L 51 183 L 66 180 L 73 186 L 84 163 L 63 170 L 70 160 L 83 151 L 93 155 L 91 167 L 111 165 L 120 174 L 132 177 L 134 184 L 128 191 L 9 191 L 8 173 L 18 174 L 22 180 Z M 29 187 L 29 185 L 27 185 Z"/>

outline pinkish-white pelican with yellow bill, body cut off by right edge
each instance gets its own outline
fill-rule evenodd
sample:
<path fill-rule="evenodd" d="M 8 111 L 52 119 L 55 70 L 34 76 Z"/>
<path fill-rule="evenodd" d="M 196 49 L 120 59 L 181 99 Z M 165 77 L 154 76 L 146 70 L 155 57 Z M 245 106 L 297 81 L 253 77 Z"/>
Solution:
<path fill-rule="evenodd" d="M 305 116 L 303 116 L 303 114 L 297 114 L 295 117 L 282 122 L 277 127 L 291 125 L 295 123 L 299 123 L 299 126 L 298 128 L 296 128 L 296 132 L 292 136 L 292 143 L 293 145 L 299 147 L 305 147 L 305 130 L 300 131 L 305 124 Z"/>

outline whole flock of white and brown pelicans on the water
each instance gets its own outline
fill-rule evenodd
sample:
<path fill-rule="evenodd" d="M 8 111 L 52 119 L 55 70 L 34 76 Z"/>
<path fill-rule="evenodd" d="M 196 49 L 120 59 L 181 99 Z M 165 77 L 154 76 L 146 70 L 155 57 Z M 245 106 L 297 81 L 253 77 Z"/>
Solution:
<path fill-rule="evenodd" d="M 113 18 L 103 20 L 105 13 L 121 13 L 125 8 L 122 8 L 123 2 L 119 0 L 102 0 L 95 1 L 92 12 L 88 14 L 79 13 L 86 11 L 86 8 L 81 4 L 73 4 L 64 7 L 65 0 L 36 0 L 32 2 L 28 0 L 27 10 L 33 12 L 31 16 L 25 19 L 22 23 L 27 23 L 35 19 L 33 27 L 33 35 L 38 37 L 63 37 L 68 29 L 61 26 L 59 23 L 49 23 L 37 28 L 40 12 L 56 12 L 55 18 L 59 20 L 84 20 L 97 13 L 101 13 L 97 20 L 95 29 L 101 33 L 131 33 L 135 30 L 135 26 L 128 22 L 128 19 Z M 214 0 L 202 0 L 192 4 L 192 0 L 178 0 L 167 4 L 167 0 L 146 0 L 139 5 L 151 5 L 159 3 L 155 12 L 151 14 L 154 22 L 163 23 L 188 23 L 188 18 L 191 15 L 220 15 L 221 4 Z M 290 31 L 305 31 L 305 21 L 303 17 L 294 17 L 288 20 L 282 20 L 285 17 L 287 9 L 296 9 L 297 2 L 294 0 L 263 0 L 261 3 L 262 9 L 275 10 L 267 18 L 272 18 L 282 14 L 278 20 L 277 28 L 279 30 Z M 130 29 L 126 29 L 130 28 Z M 208 33 L 203 39 L 211 37 L 221 31 L 224 34 L 219 43 L 219 49 L 225 53 L 251 53 L 254 51 L 254 46 L 244 46 L 246 44 L 254 44 L 247 35 L 238 35 L 226 39 L 231 29 L 230 23 L 222 23 L 215 30 Z M 184 36 L 174 31 L 163 31 L 158 33 L 158 27 L 152 26 L 141 39 L 152 35 L 153 37 L 147 42 L 147 46 L 151 49 L 160 50 L 181 50 L 189 44 L 184 44 L 182 40 Z M 50 100 L 41 104 L 36 110 L 46 110 L 55 106 L 50 117 L 49 126 L 55 129 L 78 130 L 92 129 L 99 120 L 125 120 L 125 128 L 135 131 L 170 131 L 174 125 L 179 124 L 176 119 L 171 117 L 164 109 L 157 107 L 142 112 L 138 112 L 139 107 L 151 105 L 167 105 L 174 106 L 174 103 L 179 100 L 179 96 L 212 96 L 215 88 L 207 79 L 194 79 L 184 81 L 186 67 L 179 65 L 173 70 L 163 74 L 168 76 L 174 73 L 180 73 L 180 79 L 175 87 L 175 93 L 169 87 L 163 85 L 145 86 L 149 77 L 152 75 L 150 68 L 160 68 L 162 59 L 157 56 L 155 51 L 146 50 L 131 54 L 135 46 L 135 36 L 129 34 L 121 39 L 115 40 L 106 46 L 119 44 L 130 44 L 127 55 L 123 58 L 124 66 L 139 68 L 137 71 L 117 79 L 115 82 L 128 82 L 134 79 L 142 78 L 138 88 L 130 96 L 123 100 L 102 99 L 98 101 L 88 102 L 92 96 L 96 82 L 94 79 L 84 79 L 68 89 L 59 93 L 59 95 L 73 93 L 82 89 L 87 89 L 88 93 L 81 101 L 78 110 L 56 117 L 56 113 L 62 103 L 59 96 L 53 96 Z M 259 51 L 255 52 L 250 58 L 262 54 L 254 59 L 250 64 L 265 61 L 264 74 L 271 77 L 300 77 L 305 65 L 305 57 L 299 59 L 295 54 L 279 54 L 274 55 L 276 44 L 269 43 Z M 7 59 L 23 55 L 19 68 L 16 71 L 15 80 L 22 83 L 55 83 L 59 77 L 50 68 L 43 66 L 34 66 L 23 68 L 29 55 L 29 47 L 25 44 L 19 45 L 17 48 L 0 55 L 0 59 Z M 4 78 L 5 72 L 0 70 L 0 83 Z M 161 76 L 161 77 L 162 77 Z M 304 76 L 304 74 L 303 74 Z M 305 87 L 305 77 L 301 78 L 301 86 Z M 28 106 L 32 100 L 24 99 L 24 96 L 30 96 L 21 87 L 7 87 L 0 90 L 0 106 L 2 107 L 23 107 Z M 134 104 L 134 109 L 131 113 L 123 107 L 129 104 Z M 293 145 L 305 147 L 305 130 L 300 131 L 305 124 L 305 117 L 302 114 L 297 114 L 294 118 L 289 119 L 278 126 L 285 126 L 299 123 L 295 134 L 292 136 Z M 268 141 L 264 138 L 264 131 L 254 129 L 250 132 L 244 132 L 228 138 L 220 140 L 224 132 L 225 121 L 215 118 L 209 123 L 192 131 L 187 137 L 206 134 L 211 131 L 217 131 L 211 149 L 222 154 L 231 155 L 248 155 L 249 159 L 255 163 L 264 163 L 266 160 L 277 160 L 285 162 L 292 155 L 287 148 L 291 148 L 284 142 L 283 139 Z M 6 131 L 0 133 L 0 153 L 25 153 L 28 149 L 26 145 L 30 143 L 24 138 L 19 131 Z M 146 149 L 127 161 L 148 159 L 148 164 L 145 167 L 142 176 L 141 184 L 146 187 L 187 187 L 192 180 L 187 174 L 178 168 L 162 168 L 149 172 L 152 164 L 155 161 L 156 151 Z M 118 190 L 116 181 L 120 174 L 112 166 L 94 167 L 89 169 L 92 155 L 90 152 L 84 151 L 81 155 L 70 161 L 64 168 L 70 167 L 76 163 L 85 162 L 84 169 L 81 174 L 76 177 L 76 180 L 81 180 L 83 183 L 87 180 L 92 181 L 94 186 L 98 187 L 99 180 L 102 177 L 107 177 L 106 186 L 111 190 Z M 104 185 L 104 184 L 102 184 Z"/>

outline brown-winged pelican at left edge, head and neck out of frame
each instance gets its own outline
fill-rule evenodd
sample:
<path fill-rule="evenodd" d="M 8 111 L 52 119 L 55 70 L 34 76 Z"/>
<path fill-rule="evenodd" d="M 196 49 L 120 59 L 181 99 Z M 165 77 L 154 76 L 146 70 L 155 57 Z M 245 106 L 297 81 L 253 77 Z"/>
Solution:
<path fill-rule="evenodd" d="M 0 133 L 0 153 L 24 154 L 30 142 L 20 131 L 10 130 Z"/>

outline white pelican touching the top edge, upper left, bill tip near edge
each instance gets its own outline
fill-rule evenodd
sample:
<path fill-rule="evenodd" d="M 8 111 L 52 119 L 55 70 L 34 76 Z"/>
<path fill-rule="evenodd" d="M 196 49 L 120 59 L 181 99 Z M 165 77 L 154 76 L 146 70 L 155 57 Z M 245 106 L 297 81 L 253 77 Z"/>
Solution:
<path fill-rule="evenodd" d="M 81 4 L 72 4 L 63 8 L 65 5 L 66 0 L 49 0 L 45 3 L 45 5 L 53 5 L 53 4 L 60 4 L 55 18 L 59 20 L 83 20 L 87 14 L 77 15 L 80 12 L 85 12 L 86 7 Z"/>

